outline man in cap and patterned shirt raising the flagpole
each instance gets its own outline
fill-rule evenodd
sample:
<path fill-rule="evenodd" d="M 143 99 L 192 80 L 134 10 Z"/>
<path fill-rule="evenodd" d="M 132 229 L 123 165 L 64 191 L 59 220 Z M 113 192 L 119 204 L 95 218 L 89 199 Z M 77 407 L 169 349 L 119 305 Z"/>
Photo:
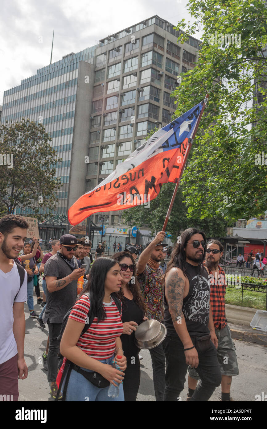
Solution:
<path fill-rule="evenodd" d="M 138 264 L 138 281 L 140 283 L 141 294 L 147 305 L 147 317 L 149 319 L 163 321 L 163 272 L 160 268 L 162 260 L 162 250 L 166 243 L 165 232 L 157 233 L 154 240 L 147 242 L 144 251 L 141 253 Z M 129 248 L 128 248 L 129 249 Z M 165 354 L 162 344 L 150 349 L 153 368 L 153 383 L 156 401 L 163 401 L 165 389 Z"/>

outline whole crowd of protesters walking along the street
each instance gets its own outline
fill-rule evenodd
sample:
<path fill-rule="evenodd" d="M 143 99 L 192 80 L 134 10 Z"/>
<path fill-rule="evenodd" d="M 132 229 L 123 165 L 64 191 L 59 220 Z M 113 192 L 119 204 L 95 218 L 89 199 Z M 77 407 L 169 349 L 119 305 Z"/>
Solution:
<path fill-rule="evenodd" d="M 129 243 L 123 251 L 114 243 L 112 257 L 103 256 L 106 243 L 99 242 L 93 262 L 92 243 L 70 234 L 51 240 L 43 255 L 40 240 L 26 241 L 27 227 L 17 215 L 0 219 L 0 394 L 18 400 L 18 377 L 27 377 L 27 301 L 29 317 L 48 326 L 42 359 L 56 400 L 135 401 L 141 374 L 135 331 L 146 320 L 167 329 L 164 341 L 149 349 L 156 401 L 179 400 L 187 372 L 187 401 L 207 401 L 219 385 L 219 400 L 234 400 L 231 381 L 239 372 L 219 241 L 207 242 L 204 232 L 189 228 L 167 264 L 161 231 L 144 249 Z M 254 262 L 259 269 L 266 258 L 258 254 Z M 40 314 L 33 308 L 34 284 Z"/>

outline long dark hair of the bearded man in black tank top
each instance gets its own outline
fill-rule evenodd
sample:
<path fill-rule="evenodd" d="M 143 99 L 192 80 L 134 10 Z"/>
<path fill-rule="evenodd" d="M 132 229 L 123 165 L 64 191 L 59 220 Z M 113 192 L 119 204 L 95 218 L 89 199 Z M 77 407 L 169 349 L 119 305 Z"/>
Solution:
<path fill-rule="evenodd" d="M 171 252 L 171 259 L 168 263 L 167 269 L 163 276 L 163 280 L 165 280 L 167 273 L 170 271 L 172 267 L 178 267 L 183 271 L 183 274 L 186 275 L 186 248 L 187 242 L 191 239 L 194 234 L 201 234 L 203 236 L 203 240 L 206 242 L 206 236 L 202 231 L 197 230 L 196 228 L 188 228 L 183 231 L 180 237 L 180 243 L 176 243 Z M 198 264 L 198 272 L 201 273 L 203 270 L 203 261 L 205 258 L 206 245 L 204 248 L 203 256 L 201 262 Z"/>

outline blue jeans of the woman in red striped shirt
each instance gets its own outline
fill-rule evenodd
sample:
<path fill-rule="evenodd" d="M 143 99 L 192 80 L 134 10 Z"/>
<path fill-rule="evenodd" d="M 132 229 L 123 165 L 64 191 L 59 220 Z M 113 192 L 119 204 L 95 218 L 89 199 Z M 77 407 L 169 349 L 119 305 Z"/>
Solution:
<path fill-rule="evenodd" d="M 99 362 L 112 365 L 114 360 L 114 355 L 109 359 L 99 360 Z M 90 369 L 82 368 L 87 372 L 94 372 Z M 66 401 L 89 401 L 89 402 L 123 402 L 123 385 L 120 383 L 120 393 L 117 398 L 110 398 L 108 396 L 108 387 L 99 389 L 99 387 L 94 386 L 90 381 L 88 381 L 83 375 L 72 369 L 71 375 L 69 377 L 69 383 L 66 391 Z M 62 386 L 63 390 L 63 386 Z"/>

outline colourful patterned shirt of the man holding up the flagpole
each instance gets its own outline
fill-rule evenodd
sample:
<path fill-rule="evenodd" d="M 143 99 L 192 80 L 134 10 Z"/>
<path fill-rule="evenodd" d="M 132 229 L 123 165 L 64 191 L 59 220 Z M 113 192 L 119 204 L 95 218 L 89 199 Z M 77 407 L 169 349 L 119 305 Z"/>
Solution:
<path fill-rule="evenodd" d="M 163 282 L 161 280 L 163 271 L 160 268 L 154 269 L 146 265 L 144 272 L 137 275 L 140 283 L 141 295 L 147 305 L 147 317 L 163 321 Z"/>

